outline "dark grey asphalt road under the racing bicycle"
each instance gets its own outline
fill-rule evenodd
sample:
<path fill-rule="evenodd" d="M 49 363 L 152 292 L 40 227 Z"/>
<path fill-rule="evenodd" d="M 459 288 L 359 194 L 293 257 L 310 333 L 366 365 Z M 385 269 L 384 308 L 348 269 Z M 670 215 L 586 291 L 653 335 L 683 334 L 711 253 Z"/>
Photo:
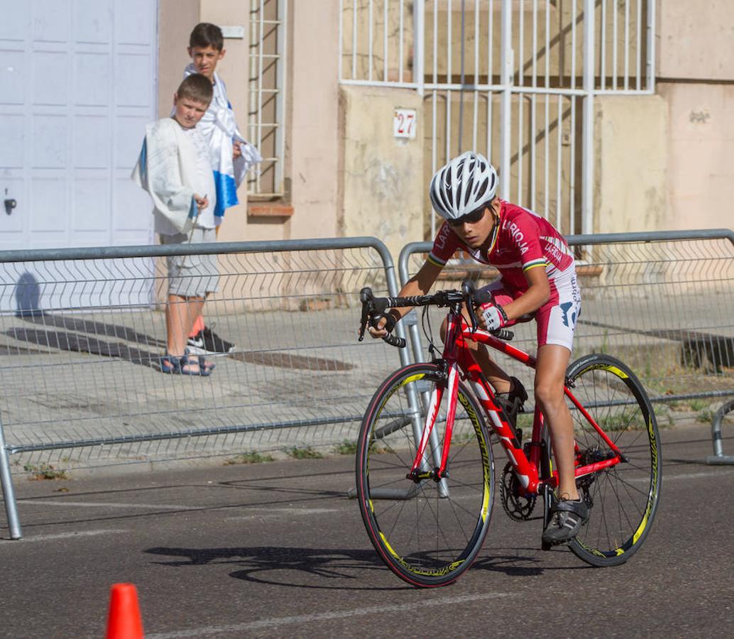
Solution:
<path fill-rule="evenodd" d="M 102 637 L 110 585 L 133 582 L 149 639 L 731 636 L 734 466 L 701 463 L 705 425 L 661 436 L 661 505 L 628 563 L 542 552 L 539 521 L 496 505 L 477 563 L 431 591 L 375 555 L 344 497 L 349 456 L 19 480 L 25 536 L 0 541 L 0 635 Z"/>

